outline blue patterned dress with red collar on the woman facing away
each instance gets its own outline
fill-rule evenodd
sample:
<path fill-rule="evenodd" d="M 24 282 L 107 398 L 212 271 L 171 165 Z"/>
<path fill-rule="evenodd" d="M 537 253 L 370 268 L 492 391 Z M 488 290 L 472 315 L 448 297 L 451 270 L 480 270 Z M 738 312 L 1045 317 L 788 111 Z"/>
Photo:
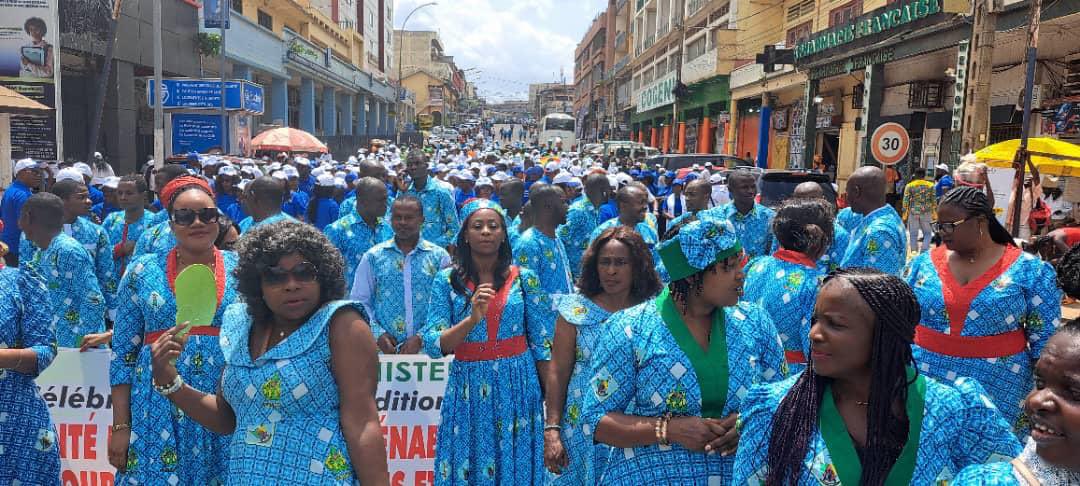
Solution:
<path fill-rule="evenodd" d="M 755 258 L 746 268 L 743 299 L 760 306 L 772 319 L 791 373 L 806 368 L 810 320 L 824 278 L 825 272 L 816 267 L 775 255 Z"/>

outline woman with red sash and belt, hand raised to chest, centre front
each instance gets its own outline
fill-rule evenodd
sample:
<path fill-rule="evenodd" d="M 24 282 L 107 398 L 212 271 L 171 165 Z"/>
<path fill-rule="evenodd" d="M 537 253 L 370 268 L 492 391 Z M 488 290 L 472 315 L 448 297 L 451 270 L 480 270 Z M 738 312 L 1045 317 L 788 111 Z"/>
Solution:
<path fill-rule="evenodd" d="M 540 380 L 551 359 L 551 297 L 536 273 L 511 265 L 497 203 L 475 200 L 461 213 L 454 267 L 435 275 L 420 330 L 430 356 L 454 354 L 435 484 L 542 484 Z"/>

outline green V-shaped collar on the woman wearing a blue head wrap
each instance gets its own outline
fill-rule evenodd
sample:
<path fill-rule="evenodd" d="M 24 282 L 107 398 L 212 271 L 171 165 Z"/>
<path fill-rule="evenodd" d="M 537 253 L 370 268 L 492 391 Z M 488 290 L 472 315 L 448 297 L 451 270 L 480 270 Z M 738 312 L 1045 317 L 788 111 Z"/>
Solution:
<path fill-rule="evenodd" d="M 724 404 L 728 400 L 728 341 L 725 335 L 724 309 L 717 308 L 713 313 L 713 329 L 708 338 L 708 351 L 705 352 L 693 339 L 690 329 L 686 327 L 683 318 L 675 309 L 675 301 L 665 287 L 657 297 L 657 310 L 664 320 L 679 349 L 690 360 L 693 373 L 698 375 L 698 388 L 701 391 L 701 416 L 723 418 Z M 678 410 L 670 410 L 677 413 Z"/>

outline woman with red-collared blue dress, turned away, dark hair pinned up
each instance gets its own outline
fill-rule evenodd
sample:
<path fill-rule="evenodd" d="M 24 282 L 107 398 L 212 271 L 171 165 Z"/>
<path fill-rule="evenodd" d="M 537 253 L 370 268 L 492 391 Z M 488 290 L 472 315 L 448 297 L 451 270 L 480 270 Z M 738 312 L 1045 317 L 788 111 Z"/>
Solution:
<path fill-rule="evenodd" d="M 769 313 L 792 373 L 806 367 L 810 318 L 825 272 L 818 259 L 833 242 L 833 210 L 823 199 L 793 199 L 772 219 L 780 249 L 751 260 L 743 299 Z"/>

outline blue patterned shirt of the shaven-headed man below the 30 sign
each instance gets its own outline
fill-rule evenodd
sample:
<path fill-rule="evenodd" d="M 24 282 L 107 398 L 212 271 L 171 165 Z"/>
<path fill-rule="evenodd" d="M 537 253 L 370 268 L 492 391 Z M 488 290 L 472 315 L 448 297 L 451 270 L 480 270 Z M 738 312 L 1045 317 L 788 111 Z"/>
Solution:
<path fill-rule="evenodd" d="M 886 204 L 864 216 L 851 230 L 840 267 L 868 267 L 900 276 L 906 262 L 907 231 L 904 221 L 896 210 Z"/>

